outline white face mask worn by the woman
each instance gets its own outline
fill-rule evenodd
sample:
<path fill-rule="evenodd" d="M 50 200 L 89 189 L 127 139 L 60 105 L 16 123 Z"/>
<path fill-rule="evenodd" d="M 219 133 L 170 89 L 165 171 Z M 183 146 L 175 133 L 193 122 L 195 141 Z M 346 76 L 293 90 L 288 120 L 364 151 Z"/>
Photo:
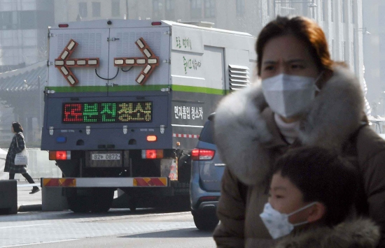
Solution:
<path fill-rule="evenodd" d="M 276 114 L 290 118 L 300 115 L 316 96 L 316 82 L 322 73 L 314 78 L 279 74 L 262 80 L 262 91 L 267 104 Z"/>

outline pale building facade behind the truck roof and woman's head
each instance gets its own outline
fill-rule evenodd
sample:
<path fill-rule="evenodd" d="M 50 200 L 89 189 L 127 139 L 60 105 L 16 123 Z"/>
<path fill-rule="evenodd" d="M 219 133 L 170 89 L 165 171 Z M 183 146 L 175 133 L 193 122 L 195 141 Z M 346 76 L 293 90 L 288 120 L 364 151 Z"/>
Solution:
<path fill-rule="evenodd" d="M 379 0 L 378 0 L 379 1 Z M 332 58 L 363 81 L 362 0 L 55 0 L 55 22 L 125 18 L 214 22 L 255 36 L 276 15 L 304 15 L 323 27 Z"/>

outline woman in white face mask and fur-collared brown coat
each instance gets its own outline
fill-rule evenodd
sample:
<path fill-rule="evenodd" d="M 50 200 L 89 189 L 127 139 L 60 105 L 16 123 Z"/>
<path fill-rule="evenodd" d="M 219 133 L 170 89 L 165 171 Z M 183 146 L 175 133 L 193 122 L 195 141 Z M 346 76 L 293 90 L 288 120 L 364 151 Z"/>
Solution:
<path fill-rule="evenodd" d="M 218 247 L 267 247 L 259 214 L 272 165 L 291 147 L 336 149 L 360 171 L 356 210 L 381 226 L 385 245 L 385 141 L 367 125 L 360 83 L 330 59 L 322 29 L 305 17 L 277 17 L 256 44 L 260 84 L 227 96 L 215 138 L 227 164 L 214 231 Z"/>

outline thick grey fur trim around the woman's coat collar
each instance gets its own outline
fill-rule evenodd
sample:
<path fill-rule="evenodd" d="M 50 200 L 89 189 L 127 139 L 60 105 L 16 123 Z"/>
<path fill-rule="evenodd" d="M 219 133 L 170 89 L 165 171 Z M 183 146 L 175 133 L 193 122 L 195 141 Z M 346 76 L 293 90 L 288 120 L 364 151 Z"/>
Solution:
<path fill-rule="evenodd" d="M 215 140 L 221 158 L 241 182 L 256 184 L 266 180 L 269 163 L 266 146 L 274 133 L 262 113 L 268 108 L 260 85 L 226 96 L 216 109 Z M 300 122 L 303 145 L 342 149 L 361 125 L 363 91 L 353 73 L 341 66 L 322 87 Z"/>

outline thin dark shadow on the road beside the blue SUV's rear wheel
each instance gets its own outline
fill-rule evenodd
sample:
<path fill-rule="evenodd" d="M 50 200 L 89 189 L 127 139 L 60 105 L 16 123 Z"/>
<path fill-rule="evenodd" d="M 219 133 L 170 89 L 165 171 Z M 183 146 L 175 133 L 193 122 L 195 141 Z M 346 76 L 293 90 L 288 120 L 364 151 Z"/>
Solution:
<path fill-rule="evenodd" d="M 204 238 L 211 237 L 212 235 L 212 232 L 200 231 L 195 227 L 191 227 L 153 233 L 133 234 L 118 238 Z"/>

